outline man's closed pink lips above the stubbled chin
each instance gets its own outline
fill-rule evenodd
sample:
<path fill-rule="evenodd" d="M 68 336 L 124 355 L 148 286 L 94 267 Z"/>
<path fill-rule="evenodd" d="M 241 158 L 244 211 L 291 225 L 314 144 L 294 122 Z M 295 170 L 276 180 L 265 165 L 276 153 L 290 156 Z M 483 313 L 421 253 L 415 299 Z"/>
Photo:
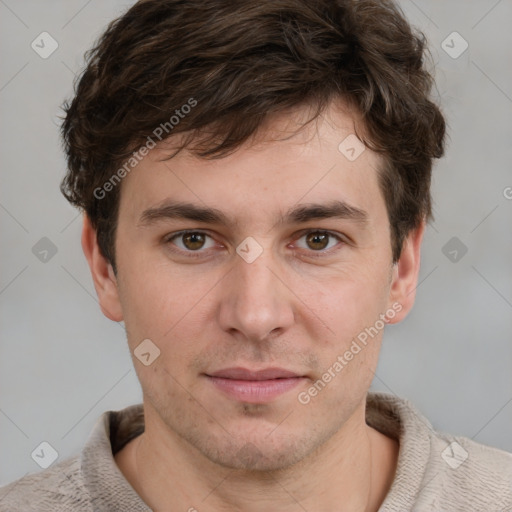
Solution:
<path fill-rule="evenodd" d="M 246 403 L 270 402 L 307 379 L 284 368 L 226 368 L 205 376 L 224 395 Z"/>

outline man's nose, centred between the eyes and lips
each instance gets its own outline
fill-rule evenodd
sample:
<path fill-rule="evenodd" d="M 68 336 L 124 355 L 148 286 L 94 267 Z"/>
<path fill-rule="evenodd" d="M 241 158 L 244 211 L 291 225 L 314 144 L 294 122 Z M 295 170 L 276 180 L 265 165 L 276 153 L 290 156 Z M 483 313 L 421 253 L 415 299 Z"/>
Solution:
<path fill-rule="evenodd" d="M 294 322 L 294 296 L 271 251 L 252 263 L 235 258 L 235 268 L 224 280 L 220 326 L 253 342 L 282 334 Z"/>

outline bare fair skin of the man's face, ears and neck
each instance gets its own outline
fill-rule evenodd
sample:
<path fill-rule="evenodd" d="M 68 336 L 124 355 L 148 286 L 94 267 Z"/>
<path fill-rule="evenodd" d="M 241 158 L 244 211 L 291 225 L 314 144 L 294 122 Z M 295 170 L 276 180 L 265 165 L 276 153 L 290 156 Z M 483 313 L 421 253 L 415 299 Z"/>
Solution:
<path fill-rule="evenodd" d="M 405 318 L 425 225 L 409 234 L 393 265 L 380 157 L 366 149 L 350 162 L 338 150 L 356 123 L 361 128 L 356 113 L 332 103 L 297 132 L 305 115 L 295 109 L 271 118 L 222 159 L 184 151 L 161 161 L 165 148 L 153 149 L 121 185 L 117 276 L 84 217 L 82 246 L 102 311 L 124 320 L 143 390 L 146 430 L 115 460 L 155 511 L 369 512 L 393 481 L 398 443 L 365 422 L 382 330 L 307 405 L 298 394 L 393 304 L 401 311 L 388 323 Z M 145 209 L 166 199 L 217 208 L 236 224 L 138 225 Z M 298 204 L 340 199 L 364 210 L 367 223 L 277 222 Z M 199 257 L 189 239 L 166 239 L 183 229 L 211 237 Z M 319 249 L 306 229 L 340 240 Z M 248 236 L 263 248 L 252 263 L 236 253 Z M 149 366 L 133 356 L 147 338 L 160 349 Z M 281 367 L 305 378 L 248 404 L 204 375 L 235 366 Z"/>

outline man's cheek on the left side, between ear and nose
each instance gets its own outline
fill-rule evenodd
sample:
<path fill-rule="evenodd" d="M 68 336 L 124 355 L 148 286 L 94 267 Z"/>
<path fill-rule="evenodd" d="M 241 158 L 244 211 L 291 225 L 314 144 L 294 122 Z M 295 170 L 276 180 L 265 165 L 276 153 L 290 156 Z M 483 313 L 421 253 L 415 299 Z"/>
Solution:
<path fill-rule="evenodd" d="M 134 366 L 141 382 L 188 382 L 190 361 L 204 348 L 205 322 L 210 318 L 219 278 L 208 273 L 194 277 L 170 266 L 132 266 L 127 270 L 121 302 Z M 210 312 L 210 313 L 209 313 Z M 140 343 L 150 339 L 159 355 L 149 366 L 137 360 Z M 189 383 L 190 384 L 190 383 Z M 167 387 L 167 386 L 164 386 Z"/>

